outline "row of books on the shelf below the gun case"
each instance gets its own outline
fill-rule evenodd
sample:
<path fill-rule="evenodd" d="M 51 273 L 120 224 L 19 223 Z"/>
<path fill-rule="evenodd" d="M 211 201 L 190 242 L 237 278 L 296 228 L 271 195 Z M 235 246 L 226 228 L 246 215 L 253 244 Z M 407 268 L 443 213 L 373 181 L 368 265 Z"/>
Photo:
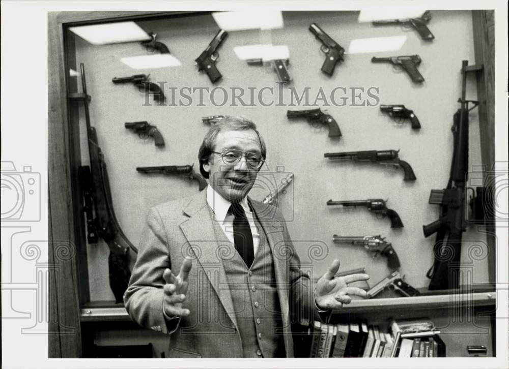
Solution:
<path fill-rule="evenodd" d="M 314 322 L 309 357 L 445 357 L 445 344 L 427 318 L 391 320 L 388 329 L 366 321 Z"/>

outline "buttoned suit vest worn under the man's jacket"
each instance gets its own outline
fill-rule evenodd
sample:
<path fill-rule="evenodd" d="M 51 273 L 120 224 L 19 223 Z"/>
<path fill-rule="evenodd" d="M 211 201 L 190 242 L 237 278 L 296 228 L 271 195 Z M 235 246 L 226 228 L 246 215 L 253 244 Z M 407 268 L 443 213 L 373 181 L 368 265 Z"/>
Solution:
<path fill-rule="evenodd" d="M 286 357 L 274 263 L 263 227 L 255 216 L 260 243 L 248 269 L 235 245 L 219 224 L 213 223 L 242 341 L 242 356 Z"/>

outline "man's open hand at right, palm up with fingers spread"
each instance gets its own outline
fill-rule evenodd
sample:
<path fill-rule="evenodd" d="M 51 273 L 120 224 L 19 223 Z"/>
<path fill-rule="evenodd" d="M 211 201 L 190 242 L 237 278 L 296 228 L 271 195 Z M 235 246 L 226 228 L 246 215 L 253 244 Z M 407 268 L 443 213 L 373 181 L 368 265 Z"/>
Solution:
<path fill-rule="evenodd" d="M 329 270 L 318 280 L 315 289 L 315 301 L 320 309 L 336 310 L 352 301 L 350 295 L 367 297 L 366 291 L 358 287 L 348 287 L 349 283 L 367 281 L 370 276 L 365 273 L 335 277 L 340 268 L 340 261 L 334 259 Z"/>

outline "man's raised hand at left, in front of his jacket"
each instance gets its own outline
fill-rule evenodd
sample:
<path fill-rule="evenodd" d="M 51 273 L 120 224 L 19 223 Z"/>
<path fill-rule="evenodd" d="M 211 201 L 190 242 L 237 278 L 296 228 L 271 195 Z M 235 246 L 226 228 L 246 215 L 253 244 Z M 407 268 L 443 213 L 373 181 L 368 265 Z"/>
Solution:
<path fill-rule="evenodd" d="M 182 308 L 182 302 L 186 299 L 188 288 L 187 277 L 191 270 L 192 262 L 184 259 L 180 267 L 179 275 L 175 276 L 170 269 L 165 269 L 162 275 L 166 284 L 164 285 L 163 311 L 169 317 L 187 316 L 188 309 Z"/>

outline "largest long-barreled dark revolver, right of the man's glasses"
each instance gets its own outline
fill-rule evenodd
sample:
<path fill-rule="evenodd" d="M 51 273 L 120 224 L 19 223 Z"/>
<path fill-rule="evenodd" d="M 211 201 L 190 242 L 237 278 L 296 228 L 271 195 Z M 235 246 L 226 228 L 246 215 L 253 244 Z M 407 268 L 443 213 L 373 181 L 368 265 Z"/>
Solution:
<path fill-rule="evenodd" d="M 415 180 L 415 174 L 412 167 L 407 162 L 398 158 L 400 150 L 367 150 L 367 151 L 350 151 L 350 152 L 327 152 L 325 158 L 330 160 L 352 160 L 356 163 L 372 162 L 382 165 L 392 165 L 401 167 L 405 173 L 403 180 Z"/>

